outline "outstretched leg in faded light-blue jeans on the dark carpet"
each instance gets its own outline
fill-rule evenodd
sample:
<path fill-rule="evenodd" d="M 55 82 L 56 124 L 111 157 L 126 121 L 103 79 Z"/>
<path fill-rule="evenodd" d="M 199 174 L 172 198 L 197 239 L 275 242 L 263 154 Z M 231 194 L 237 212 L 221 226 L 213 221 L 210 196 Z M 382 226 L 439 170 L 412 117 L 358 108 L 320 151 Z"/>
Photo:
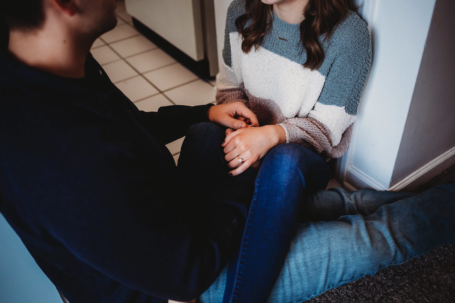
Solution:
<path fill-rule="evenodd" d="M 389 196 L 399 199 L 402 193 L 354 194 L 390 201 Z M 343 195 L 334 195 L 332 191 L 321 191 L 317 196 L 322 201 L 344 203 L 340 201 Z M 336 221 L 298 224 L 267 302 L 300 303 L 330 288 L 418 257 L 441 244 L 455 242 L 455 184 L 403 196 L 404 199 L 389 204 L 377 202 L 384 205 L 366 217 L 345 215 Z M 200 302 L 221 302 L 226 280 L 224 268 L 201 295 Z"/>

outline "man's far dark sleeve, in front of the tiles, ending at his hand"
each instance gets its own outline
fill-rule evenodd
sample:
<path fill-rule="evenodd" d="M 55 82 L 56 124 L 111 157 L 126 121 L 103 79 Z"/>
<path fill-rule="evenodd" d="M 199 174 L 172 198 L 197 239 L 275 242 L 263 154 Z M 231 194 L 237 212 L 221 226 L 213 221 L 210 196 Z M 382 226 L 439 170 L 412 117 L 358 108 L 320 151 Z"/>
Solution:
<path fill-rule="evenodd" d="M 187 129 L 199 122 L 209 122 L 207 111 L 214 104 L 162 106 L 157 112 L 140 111 L 148 129 L 163 144 L 182 138 Z"/>

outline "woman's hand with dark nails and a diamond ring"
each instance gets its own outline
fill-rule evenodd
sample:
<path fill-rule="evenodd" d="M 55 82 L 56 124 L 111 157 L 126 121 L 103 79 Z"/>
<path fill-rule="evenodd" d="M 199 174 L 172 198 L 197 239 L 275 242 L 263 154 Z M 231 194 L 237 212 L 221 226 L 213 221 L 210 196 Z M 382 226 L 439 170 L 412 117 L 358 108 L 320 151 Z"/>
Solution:
<path fill-rule="evenodd" d="M 286 143 L 283 127 L 279 125 L 253 126 L 255 124 L 236 131 L 226 130 L 226 139 L 221 146 L 224 147 L 226 154 L 224 158 L 229 162 L 228 166 L 236 168 L 229 172 L 233 176 L 243 173 L 252 164 L 258 166 L 256 162 L 262 159 L 270 149 L 278 144 Z"/>

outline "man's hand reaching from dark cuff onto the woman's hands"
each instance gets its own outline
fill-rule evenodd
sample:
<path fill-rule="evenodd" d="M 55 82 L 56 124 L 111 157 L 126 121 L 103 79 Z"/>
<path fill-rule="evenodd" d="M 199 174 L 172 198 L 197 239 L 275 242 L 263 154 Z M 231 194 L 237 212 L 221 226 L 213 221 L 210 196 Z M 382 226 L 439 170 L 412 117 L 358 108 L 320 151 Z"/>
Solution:
<path fill-rule="evenodd" d="M 242 102 L 232 102 L 212 106 L 207 111 L 207 116 L 210 122 L 221 124 L 232 129 L 241 129 L 247 127 L 247 122 L 259 126 L 258 117 L 246 107 Z M 243 118 L 243 121 L 237 119 L 238 116 Z"/>

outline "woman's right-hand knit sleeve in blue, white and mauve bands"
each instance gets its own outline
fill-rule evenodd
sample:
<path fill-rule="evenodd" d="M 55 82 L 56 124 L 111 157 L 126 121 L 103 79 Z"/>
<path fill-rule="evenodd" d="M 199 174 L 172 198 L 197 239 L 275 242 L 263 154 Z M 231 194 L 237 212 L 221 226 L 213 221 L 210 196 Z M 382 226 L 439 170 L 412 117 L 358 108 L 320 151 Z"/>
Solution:
<path fill-rule="evenodd" d="M 284 120 L 288 143 L 303 144 L 328 158 L 347 150 L 357 107 L 371 65 L 368 29 L 340 44 L 319 99 L 306 117 Z"/>

